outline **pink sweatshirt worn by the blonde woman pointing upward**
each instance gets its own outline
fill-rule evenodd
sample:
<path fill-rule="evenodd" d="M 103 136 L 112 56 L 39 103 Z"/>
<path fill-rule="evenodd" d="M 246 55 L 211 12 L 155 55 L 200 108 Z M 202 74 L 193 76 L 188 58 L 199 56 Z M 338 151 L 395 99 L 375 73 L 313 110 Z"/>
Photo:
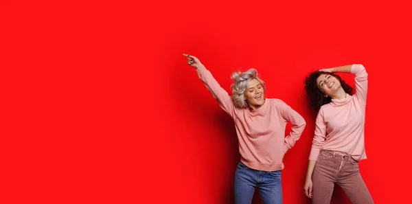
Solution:
<path fill-rule="evenodd" d="M 200 67 L 196 72 L 220 107 L 235 122 L 240 161 L 255 170 L 282 170 L 282 152 L 286 153 L 292 148 L 301 136 L 306 126 L 304 118 L 285 102 L 274 98 L 266 98 L 256 110 L 236 108 L 227 91 L 220 87 L 210 71 Z M 293 127 L 290 135 L 285 137 L 288 122 Z"/>

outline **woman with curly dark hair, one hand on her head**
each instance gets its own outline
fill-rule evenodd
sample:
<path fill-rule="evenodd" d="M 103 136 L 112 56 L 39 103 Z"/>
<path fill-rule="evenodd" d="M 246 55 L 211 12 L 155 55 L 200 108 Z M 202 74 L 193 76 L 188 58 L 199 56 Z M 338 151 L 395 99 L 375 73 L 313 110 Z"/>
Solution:
<path fill-rule="evenodd" d="M 355 74 L 356 93 L 334 72 Z M 352 203 L 374 203 L 359 173 L 364 143 L 367 72 L 363 65 L 314 71 L 306 78 L 310 105 L 317 113 L 304 191 L 314 204 L 330 203 L 334 184 Z"/>

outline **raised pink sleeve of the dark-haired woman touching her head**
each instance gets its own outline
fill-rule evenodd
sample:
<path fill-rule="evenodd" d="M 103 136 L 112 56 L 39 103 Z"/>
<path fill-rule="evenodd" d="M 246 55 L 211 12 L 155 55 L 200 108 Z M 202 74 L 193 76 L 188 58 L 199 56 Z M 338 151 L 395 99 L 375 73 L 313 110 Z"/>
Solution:
<path fill-rule="evenodd" d="M 350 70 L 355 74 L 355 97 L 365 106 L 367 98 L 367 72 L 363 65 L 354 64 Z"/>

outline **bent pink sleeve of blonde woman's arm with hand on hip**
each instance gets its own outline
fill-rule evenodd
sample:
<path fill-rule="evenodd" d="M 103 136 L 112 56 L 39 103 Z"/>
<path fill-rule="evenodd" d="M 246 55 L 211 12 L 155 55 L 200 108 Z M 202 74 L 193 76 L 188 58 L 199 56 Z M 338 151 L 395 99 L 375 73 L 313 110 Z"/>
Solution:
<path fill-rule="evenodd" d="M 304 132 L 306 122 L 304 120 L 304 117 L 299 115 L 299 113 L 297 113 L 284 102 L 281 102 L 280 104 L 280 112 L 284 120 L 290 122 L 293 125 L 290 133 L 284 139 L 283 152 L 286 153 L 301 137 L 302 133 Z"/>

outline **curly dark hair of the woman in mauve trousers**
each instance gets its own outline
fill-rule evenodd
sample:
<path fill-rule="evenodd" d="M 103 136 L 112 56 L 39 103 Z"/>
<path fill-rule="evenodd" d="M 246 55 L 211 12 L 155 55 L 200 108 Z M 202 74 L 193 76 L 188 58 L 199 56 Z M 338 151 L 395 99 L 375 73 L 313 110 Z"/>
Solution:
<path fill-rule="evenodd" d="M 349 84 L 347 84 L 344 80 L 342 80 L 339 75 L 325 71 L 314 71 L 305 78 L 306 94 L 308 94 L 310 106 L 312 106 L 312 109 L 314 109 L 314 111 L 319 111 L 319 109 L 321 109 L 321 106 L 330 103 L 332 100 L 330 96 L 325 97 L 325 94 L 322 93 L 321 90 L 317 87 L 316 80 L 319 76 L 321 76 L 322 73 L 336 77 L 339 80 L 339 82 L 341 82 L 343 90 L 345 90 L 345 92 L 349 95 L 353 95 L 352 91 L 354 89 L 352 89 L 352 87 Z"/>

